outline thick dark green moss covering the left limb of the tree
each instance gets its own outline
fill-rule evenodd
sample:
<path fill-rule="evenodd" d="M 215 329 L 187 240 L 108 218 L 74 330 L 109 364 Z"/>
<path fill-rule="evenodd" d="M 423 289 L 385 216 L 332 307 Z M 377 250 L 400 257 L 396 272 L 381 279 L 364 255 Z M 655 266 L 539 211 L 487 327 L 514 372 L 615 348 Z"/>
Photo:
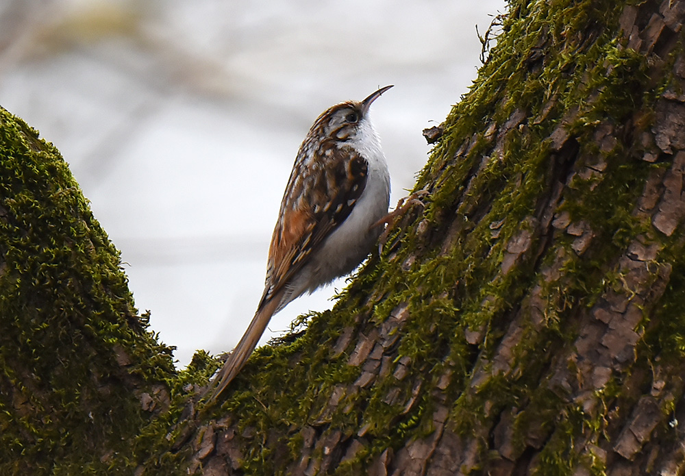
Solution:
<path fill-rule="evenodd" d="M 3 109 L 0 316 L 0 473 L 129 474 L 110 466 L 149 418 L 135 393 L 173 377 L 172 349 L 57 149 Z"/>

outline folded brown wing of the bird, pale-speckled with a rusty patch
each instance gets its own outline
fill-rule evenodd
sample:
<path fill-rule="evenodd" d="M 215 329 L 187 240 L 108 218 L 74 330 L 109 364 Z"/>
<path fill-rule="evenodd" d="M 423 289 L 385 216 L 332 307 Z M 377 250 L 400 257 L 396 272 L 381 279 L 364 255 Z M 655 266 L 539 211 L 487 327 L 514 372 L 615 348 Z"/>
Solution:
<path fill-rule="evenodd" d="M 369 164 L 351 147 L 325 143 L 313 162 L 299 162 L 290 176 L 271 237 L 260 308 L 345 221 L 366 186 Z"/>

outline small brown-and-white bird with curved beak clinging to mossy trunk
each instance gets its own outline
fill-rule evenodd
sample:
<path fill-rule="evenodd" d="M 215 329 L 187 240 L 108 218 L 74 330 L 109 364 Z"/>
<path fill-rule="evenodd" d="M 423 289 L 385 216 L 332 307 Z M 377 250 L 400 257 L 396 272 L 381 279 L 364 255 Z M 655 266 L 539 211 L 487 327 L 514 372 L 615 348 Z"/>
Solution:
<path fill-rule="evenodd" d="M 255 349 L 271 316 L 351 273 L 384 229 L 390 173 L 369 108 L 393 85 L 325 110 L 297 152 L 281 201 L 264 292 L 252 321 L 212 381 L 216 401 Z"/>

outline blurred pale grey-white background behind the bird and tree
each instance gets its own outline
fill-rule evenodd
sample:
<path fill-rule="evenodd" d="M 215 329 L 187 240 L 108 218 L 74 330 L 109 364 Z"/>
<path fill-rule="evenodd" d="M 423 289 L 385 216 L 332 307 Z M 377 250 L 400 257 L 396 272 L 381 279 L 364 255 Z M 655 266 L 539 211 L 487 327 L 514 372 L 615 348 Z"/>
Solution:
<path fill-rule="evenodd" d="M 262 295 L 300 142 L 329 106 L 395 84 L 373 122 L 411 188 L 475 79 L 504 0 L 0 0 L 0 105 L 53 142 L 121 249 L 151 325 L 229 351 Z M 293 301 L 262 342 L 332 307 L 339 279 Z"/>

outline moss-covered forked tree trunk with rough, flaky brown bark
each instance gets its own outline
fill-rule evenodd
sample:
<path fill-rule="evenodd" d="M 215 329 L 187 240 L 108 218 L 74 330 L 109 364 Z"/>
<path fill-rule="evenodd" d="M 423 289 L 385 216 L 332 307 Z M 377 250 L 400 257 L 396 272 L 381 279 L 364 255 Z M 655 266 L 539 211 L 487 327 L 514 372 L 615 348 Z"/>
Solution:
<path fill-rule="evenodd" d="M 425 208 L 214 408 L 5 114 L 0 473 L 685 474 L 685 1 L 633 3 L 512 0 Z"/>

